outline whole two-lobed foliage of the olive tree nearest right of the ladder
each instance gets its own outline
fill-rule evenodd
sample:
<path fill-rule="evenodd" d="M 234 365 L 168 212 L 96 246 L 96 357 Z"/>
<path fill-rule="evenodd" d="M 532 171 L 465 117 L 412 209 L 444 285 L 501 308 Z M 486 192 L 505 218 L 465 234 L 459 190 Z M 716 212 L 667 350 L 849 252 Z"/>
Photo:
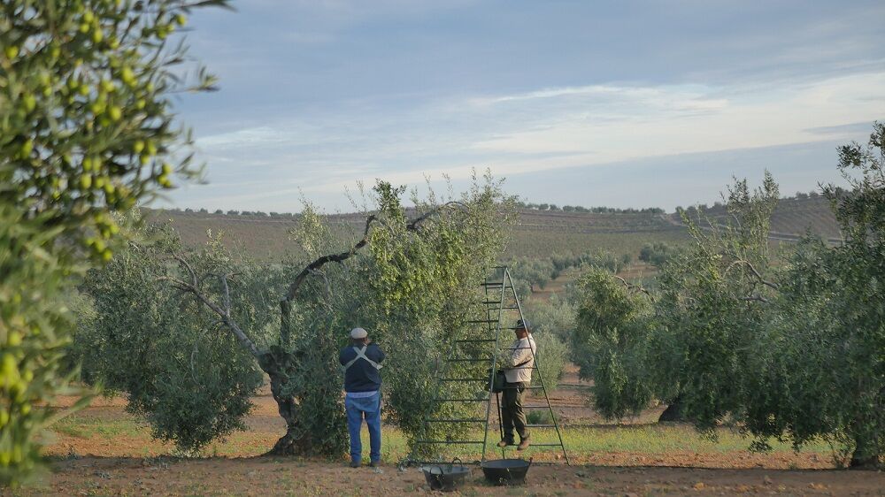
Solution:
<path fill-rule="evenodd" d="M 695 243 L 661 268 L 650 294 L 610 272 L 589 271 L 573 350 L 581 375 L 593 378 L 596 408 L 606 417 L 669 403 L 699 428 L 740 417 L 757 392 L 764 310 L 772 281 L 767 233 L 778 191 L 770 174 L 751 191 L 737 181 L 725 221 L 683 219 Z"/>

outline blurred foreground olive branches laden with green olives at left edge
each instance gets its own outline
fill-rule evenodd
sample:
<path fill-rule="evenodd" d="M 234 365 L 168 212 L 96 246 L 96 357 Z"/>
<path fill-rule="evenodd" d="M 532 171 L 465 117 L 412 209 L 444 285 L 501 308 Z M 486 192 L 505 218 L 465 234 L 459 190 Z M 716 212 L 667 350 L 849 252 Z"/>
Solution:
<path fill-rule="evenodd" d="M 185 50 L 166 43 L 198 4 L 226 2 L 0 1 L 0 484 L 33 473 L 52 417 L 31 406 L 66 385 L 68 313 L 55 296 L 112 257 L 111 210 L 192 171 L 167 155 L 188 143 L 170 96 L 212 77 L 171 73 Z"/>

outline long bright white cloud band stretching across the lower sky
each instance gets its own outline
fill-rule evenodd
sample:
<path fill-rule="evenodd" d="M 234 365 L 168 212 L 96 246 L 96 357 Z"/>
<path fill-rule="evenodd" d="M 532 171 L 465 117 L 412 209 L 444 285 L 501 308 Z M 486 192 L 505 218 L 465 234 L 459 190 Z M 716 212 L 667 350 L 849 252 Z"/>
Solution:
<path fill-rule="evenodd" d="M 558 174 L 654 157 L 832 140 L 885 116 L 885 105 L 870 100 L 881 88 L 885 72 L 768 88 L 542 88 L 446 98 L 396 111 L 360 104 L 200 137 L 211 185 L 199 188 L 236 206 L 281 210 L 278 202 L 302 192 L 334 196 L 376 178 L 404 184 L 421 184 L 427 175 L 465 180 L 474 168 L 508 177 Z"/>

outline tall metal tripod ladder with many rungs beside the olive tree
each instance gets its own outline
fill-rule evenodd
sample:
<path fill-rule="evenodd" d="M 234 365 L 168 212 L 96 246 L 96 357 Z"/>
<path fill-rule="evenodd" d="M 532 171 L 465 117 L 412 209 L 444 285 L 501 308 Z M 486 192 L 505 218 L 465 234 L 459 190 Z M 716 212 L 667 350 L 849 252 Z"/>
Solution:
<path fill-rule="evenodd" d="M 481 318 L 467 321 L 469 325 L 475 325 L 477 330 L 475 332 L 472 331 L 471 335 L 463 338 L 453 337 L 449 349 L 449 355 L 445 359 L 443 359 L 442 367 L 439 368 L 439 371 L 437 373 L 436 388 L 433 400 L 434 406 L 438 406 L 441 404 L 476 405 L 476 412 L 481 412 L 480 407 L 481 404 L 484 403 L 485 417 L 435 417 L 435 415 L 433 414 L 428 414 L 424 417 L 424 420 L 422 422 L 422 436 L 419 437 L 419 440 L 415 441 L 415 449 L 421 446 L 436 445 L 466 445 L 477 447 L 482 446 L 481 461 L 485 461 L 486 455 L 489 450 L 489 418 L 491 417 L 492 395 L 495 395 L 499 434 L 503 439 L 504 429 L 501 421 L 501 406 L 498 394 L 492 392 L 492 380 L 495 378 L 495 374 L 498 369 L 497 359 L 499 352 L 502 350 L 515 350 L 515 348 L 511 347 L 502 347 L 501 331 L 512 331 L 516 329 L 514 326 L 516 320 L 525 319 L 525 317 L 522 312 L 522 304 L 519 302 L 519 295 L 517 295 L 516 293 L 516 288 L 513 285 L 513 279 L 510 271 L 507 269 L 507 266 L 496 266 L 492 269 L 494 270 L 492 275 L 485 281 L 483 281 L 483 283 L 481 283 L 482 293 L 484 295 L 481 302 L 481 311 L 479 312 L 479 317 Z M 505 310 L 508 312 L 505 313 Z M 507 323 L 510 323 L 510 325 L 504 325 L 505 321 Z M 550 413 L 550 419 L 552 420 L 552 423 L 527 424 L 527 428 L 552 428 L 556 430 L 558 440 L 558 443 L 532 442 L 530 447 L 559 447 L 562 450 L 562 456 L 566 464 L 570 464 L 568 460 L 568 454 L 566 453 L 566 446 L 562 441 L 562 432 L 559 429 L 556 414 L 553 412 L 553 408 L 550 406 L 550 397 L 548 397 L 547 388 L 544 386 L 544 378 L 541 374 L 541 370 L 538 369 L 538 357 L 535 356 L 534 349 L 530 348 L 530 350 L 532 351 L 533 359 L 535 359 L 532 369 L 535 370 L 533 372 L 535 373 L 540 386 L 527 386 L 527 389 L 541 390 L 543 392 L 544 403 L 525 405 L 523 406 L 523 408 L 526 410 L 546 409 Z M 543 356 L 543 352 L 541 353 L 541 355 Z M 465 375 L 465 378 L 450 378 L 452 369 L 450 366 L 457 363 L 462 363 L 468 368 L 471 364 L 473 364 L 473 370 L 481 370 L 483 365 L 487 365 L 489 369 L 488 372 L 482 371 L 481 373 L 470 371 L 470 373 Z M 468 386 L 475 385 L 477 387 L 477 394 L 473 396 L 465 394 L 448 394 L 448 390 L 450 390 L 450 388 L 447 388 L 446 386 L 450 384 L 462 384 Z M 479 394 L 479 392 L 482 393 Z M 438 412 L 439 410 L 444 409 L 433 409 L 434 412 Z M 482 440 L 430 440 L 427 438 L 427 433 L 431 431 L 430 427 L 432 424 L 443 424 L 449 426 L 455 424 L 466 424 L 467 426 L 481 425 L 483 427 Z M 496 446 L 497 440 L 492 440 L 491 443 L 493 446 Z M 500 448 L 502 458 L 506 457 L 506 451 L 509 448 L 511 447 Z M 407 463 L 440 462 L 419 461 L 412 456 L 413 454 L 414 453 L 410 454 L 407 457 Z"/>

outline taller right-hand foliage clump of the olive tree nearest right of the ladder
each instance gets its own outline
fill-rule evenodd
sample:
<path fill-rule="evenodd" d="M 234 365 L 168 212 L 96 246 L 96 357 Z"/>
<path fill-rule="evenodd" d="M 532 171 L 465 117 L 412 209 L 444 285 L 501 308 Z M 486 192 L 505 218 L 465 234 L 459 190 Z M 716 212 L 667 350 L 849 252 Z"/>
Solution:
<path fill-rule="evenodd" d="M 748 396 L 766 394 L 767 304 L 776 294 L 768 245 L 778 187 L 766 172 L 751 191 L 746 180 L 729 187 L 728 218 L 683 214 L 695 243 L 665 264 L 655 305 L 661 400 L 678 397 L 681 416 L 704 430 L 726 417 L 741 419 Z M 701 215 L 699 215 L 701 216 Z M 670 395 L 661 389 L 669 387 Z M 669 397 L 669 398 L 668 398 Z"/>

